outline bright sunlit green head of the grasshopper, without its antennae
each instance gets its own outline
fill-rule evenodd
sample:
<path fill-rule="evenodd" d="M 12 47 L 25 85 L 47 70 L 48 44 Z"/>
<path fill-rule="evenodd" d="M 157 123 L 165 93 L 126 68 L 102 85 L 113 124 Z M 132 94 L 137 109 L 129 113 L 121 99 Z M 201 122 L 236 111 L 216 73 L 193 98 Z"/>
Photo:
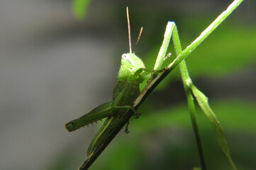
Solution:
<path fill-rule="evenodd" d="M 122 55 L 121 68 L 119 69 L 117 79 L 138 81 L 140 83 L 144 80 L 142 75 L 134 75 L 140 68 L 145 68 L 143 61 L 133 53 L 125 53 Z"/>

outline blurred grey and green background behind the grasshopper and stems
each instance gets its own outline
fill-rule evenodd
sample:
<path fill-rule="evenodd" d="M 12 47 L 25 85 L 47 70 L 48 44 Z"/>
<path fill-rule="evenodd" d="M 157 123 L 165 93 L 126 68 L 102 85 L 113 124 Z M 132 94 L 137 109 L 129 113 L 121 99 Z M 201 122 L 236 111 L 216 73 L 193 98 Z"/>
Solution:
<path fill-rule="evenodd" d="M 152 68 L 167 21 L 177 23 L 186 47 L 230 2 L 91 0 L 74 14 L 67 0 L 0 1 L 0 169 L 65 170 L 82 164 L 99 124 L 71 133 L 64 125 L 111 98 L 121 55 L 128 52 L 126 6 L 133 44 L 144 27 L 135 52 Z M 256 169 L 255 7 L 255 1 L 244 1 L 187 58 L 235 164 L 244 170 Z M 208 169 L 230 169 L 211 125 L 197 111 Z M 91 169 L 199 166 L 178 69 L 140 113 L 130 120 L 130 134 L 120 132 Z"/>

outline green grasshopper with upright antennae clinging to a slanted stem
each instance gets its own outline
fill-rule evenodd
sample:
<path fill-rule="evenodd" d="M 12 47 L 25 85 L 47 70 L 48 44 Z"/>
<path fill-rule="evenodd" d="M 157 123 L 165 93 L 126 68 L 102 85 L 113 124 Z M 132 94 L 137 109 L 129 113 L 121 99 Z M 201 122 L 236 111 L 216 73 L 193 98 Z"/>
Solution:
<path fill-rule="evenodd" d="M 94 108 L 94 110 L 83 115 L 81 118 L 77 118 L 66 124 L 66 129 L 71 132 L 90 123 L 94 123 L 97 120 L 106 118 L 104 125 L 102 125 L 99 132 L 96 133 L 91 141 L 87 150 L 88 158 L 79 170 L 89 169 L 89 166 L 99 157 L 99 154 L 101 154 L 103 149 L 107 147 L 124 125 L 126 125 L 125 132 L 128 133 L 128 121 L 131 115 L 134 115 L 135 118 L 140 116 L 136 109 L 133 108 L 133 101 L 140 95 L 139 84 L 149 79 L 150 73 L 161 72 L 146 69 L 143 61 L 132 53 L 128 8 L 126 8 L 126 12 L 130 52 L 122 55 L 121 68 L 116 78 L 116 85 L 113 89 L 111 101 Z"/>

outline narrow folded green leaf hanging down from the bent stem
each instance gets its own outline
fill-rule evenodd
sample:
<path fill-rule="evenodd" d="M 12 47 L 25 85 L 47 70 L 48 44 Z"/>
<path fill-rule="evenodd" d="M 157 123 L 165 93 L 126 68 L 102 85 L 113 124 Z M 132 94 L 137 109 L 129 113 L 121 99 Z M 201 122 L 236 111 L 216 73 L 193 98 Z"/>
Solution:
<path fill-rule="evenodd" d="M 196 86 L 192 84 L 192 82 L 187 82 L 187 84 L 191 88 L 191 91 L 194 94 L 196 101 L 199 103 L 199 106 L 210 120 L 213 130 L 216 134 L 218 144 L 221 146 L 221 149 L 226 154 L 230 165 L 233 169 L 236 169 L 235 164 L 233 163 L 233 160 L 230 156 L 228 143 L 221 128 L 221 124 L 218 122 L 216 115 L 213 113 L 210 106 L 208 105 L 208 98 L 201 91 L 199 91 L 199 89 L 197 89 Z"/>

